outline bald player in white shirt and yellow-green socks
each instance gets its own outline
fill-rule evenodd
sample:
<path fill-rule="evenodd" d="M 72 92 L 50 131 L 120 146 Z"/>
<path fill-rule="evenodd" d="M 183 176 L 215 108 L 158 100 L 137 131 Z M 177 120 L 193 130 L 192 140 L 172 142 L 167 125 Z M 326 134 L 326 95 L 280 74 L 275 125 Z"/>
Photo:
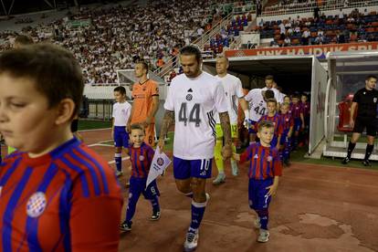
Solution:
<path fill-rule="evenodd" d="M 237 142 L 237 111 L 238 103 L 244 110 L 246 121 L 249 119 L 249 110 L 247 101 L 244 100 L 244 93 L 242 89 L 241 80 L 237 77 L 227 73 L 227 68 L 229 67 L 229 62 L 226 57 L 216 58 L 216 77 L 222 81 L 223 89 L 226 94 L 226 102 L 228 115 L 231 121 L 231 138 L 233 141 L 232 149 L 236 152 L 236 142 Z M 222 158 L 222 146 L 223 146 L 223 131 L 220 125 L 219 116 L 215 113 L 215 131 L 216 131 L 216 142 L 215 142 L 215 163 L 218 168 L 218 175 L 213 181 L 213 184 L 221 184 L 226 180 L 225 167 Z M 238 168 L 236 161 L 231 159 L 232 174 L 237 175 Z"/>

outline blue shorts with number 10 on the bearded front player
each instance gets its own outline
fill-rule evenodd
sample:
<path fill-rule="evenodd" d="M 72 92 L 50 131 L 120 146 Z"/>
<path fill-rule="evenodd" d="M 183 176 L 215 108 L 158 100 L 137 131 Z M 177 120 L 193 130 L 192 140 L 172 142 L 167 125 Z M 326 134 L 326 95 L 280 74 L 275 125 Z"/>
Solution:
<path fill-rule="evenodd" d="M 184 160 L 173 156 L 173 175 L 175 179 L 211 178 L 213 159 Z"/>

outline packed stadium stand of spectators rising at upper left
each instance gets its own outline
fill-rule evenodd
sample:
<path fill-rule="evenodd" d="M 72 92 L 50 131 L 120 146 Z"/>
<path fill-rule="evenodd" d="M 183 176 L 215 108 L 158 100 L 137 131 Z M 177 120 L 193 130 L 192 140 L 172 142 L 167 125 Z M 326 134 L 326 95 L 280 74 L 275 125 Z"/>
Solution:
<path fill-rule="evenodd" d="M 79 14 L 48 26 L 27 26 L 22 33 L 36 42 L 52 40 L 67 47 L 79 59 L 88 83 L 114 83 L 116 69 L 133 68 L 140 59 L 158 68 L 177 47 L 201 37 L 213 22 L 212 3 L 161 0 L 148 5 L 82 8 Z M 12 47 L 17 34 L 1 33 L 0 50 Z"/>

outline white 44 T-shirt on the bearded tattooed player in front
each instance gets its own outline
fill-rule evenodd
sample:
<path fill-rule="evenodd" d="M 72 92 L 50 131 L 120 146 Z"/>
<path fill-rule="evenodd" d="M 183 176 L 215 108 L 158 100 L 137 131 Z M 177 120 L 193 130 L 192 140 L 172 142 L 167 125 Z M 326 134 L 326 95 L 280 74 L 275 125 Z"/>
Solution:
<path fill-rule="evenodd" d="M 165 110 L 174 111 L 173 155 L 184 160 L 214 157 L 214 113 L 226 112 L 219 79 L 202 72 L 196 78 L 176 76 L 168 89 Z"/>

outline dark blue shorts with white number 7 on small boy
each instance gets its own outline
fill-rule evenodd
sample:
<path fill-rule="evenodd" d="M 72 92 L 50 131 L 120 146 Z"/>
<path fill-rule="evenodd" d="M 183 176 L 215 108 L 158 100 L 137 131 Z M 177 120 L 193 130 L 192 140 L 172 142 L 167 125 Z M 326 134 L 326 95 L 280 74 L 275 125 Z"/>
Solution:
<path fill-rule="evenodd" d="M 254 210 L 268 209 L 271 196 L 267 187 L 273 184 L 273 178 L 266 180 L 249 179 L 248 200 L 249 207 Z"/>

